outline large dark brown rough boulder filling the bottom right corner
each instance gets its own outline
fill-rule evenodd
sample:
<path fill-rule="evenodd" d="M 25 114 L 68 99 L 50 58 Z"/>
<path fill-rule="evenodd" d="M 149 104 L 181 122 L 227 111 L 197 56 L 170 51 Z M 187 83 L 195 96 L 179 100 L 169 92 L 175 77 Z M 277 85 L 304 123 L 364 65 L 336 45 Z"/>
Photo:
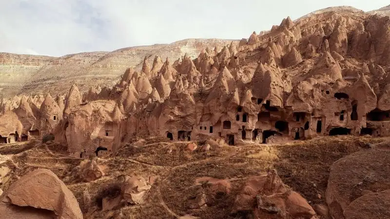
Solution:
<path fill-rule="evenodd" d="M 390 150 L 373 148 L 332 164 L 325 193 L 331 217 L 389 218 L 389 160 Z"/>

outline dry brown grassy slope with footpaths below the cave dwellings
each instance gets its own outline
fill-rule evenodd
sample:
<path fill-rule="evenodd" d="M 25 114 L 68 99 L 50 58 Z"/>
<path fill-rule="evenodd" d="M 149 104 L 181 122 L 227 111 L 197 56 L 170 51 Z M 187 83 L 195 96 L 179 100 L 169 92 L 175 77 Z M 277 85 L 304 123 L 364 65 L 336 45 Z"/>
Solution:
<path fill-rule="evenodd" d="M 84 218 L 110 218 L 121 213 L 124 218 L 176 218 L 190 214 L 200 218 L 235 218 L 231 215 L 236 194 L 248 177 L 264 173 L 275 168 L 285 184 L 292 187 L 311 204 L 324 203 L 324 193 L 328 182 L 330 166 L 338 159 L 360 150 L 360 143 L 380 143 L 387 138 L 370 137 L 321 137 L 308 141 L 295 141 L 285 145 L 221 146 L 210 151 L 186 150 L 188 143 L 172 143 L 166 139 L 146 139 L 144 146 L 134 147 L 134 142 L 124 146 L 118 156 L 97 159 L 99 165 L 106 166 L 103 178 L 91 183 L 73 183 L 66 181 L 77 198 Z M 136 141 L 135 141 L 136 142 Z M 81 159 L 61 158 L 63 146 L 48 145 L 55 154 L 49 153 L 45 146 L 24 144 L 12 147 L 0 147 L 0 151 L 13 156 L 18 165 L 6 164 L 11 169 L 11 180 L 2 188 L 36 168 L 48 168 L 64 179 Z M 23 153 L 20 153 L 25 151 Z M 1 152 L 0 152 L 1 153 Z M 142 204 L 126 206 L 121 210 L 103 212 L 99 203 L 110 185 L 117 183 L 120 175 L 158 176 L 157 183 Z M 188 200 L 205 188 L 195 185 L 200 177 L 227 179 L 231 185 L 229 195 L 211 197 L 208 206 L 202 210 L 189 209 Z M 84 203 L 83 191 L 88 190 L 91 203 Z M 108 189 L 109 191 L 116 191 Z M 115 193 L 117 194 L 117 193 Z M 322 196 L 317 198 L 317 194 Z M 94 201 L 95 200 L 95 201 Z"/>

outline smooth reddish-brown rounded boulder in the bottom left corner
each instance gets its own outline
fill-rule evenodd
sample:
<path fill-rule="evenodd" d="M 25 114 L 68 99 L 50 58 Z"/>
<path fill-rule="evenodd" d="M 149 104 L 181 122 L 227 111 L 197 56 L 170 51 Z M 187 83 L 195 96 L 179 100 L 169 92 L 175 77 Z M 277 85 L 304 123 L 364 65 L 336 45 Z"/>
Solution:
<path fill-rule="evenodd" d="M 82 219 L 73 193 L 48 169 L 20 178 L 0 197 L 0 219 Z"/>

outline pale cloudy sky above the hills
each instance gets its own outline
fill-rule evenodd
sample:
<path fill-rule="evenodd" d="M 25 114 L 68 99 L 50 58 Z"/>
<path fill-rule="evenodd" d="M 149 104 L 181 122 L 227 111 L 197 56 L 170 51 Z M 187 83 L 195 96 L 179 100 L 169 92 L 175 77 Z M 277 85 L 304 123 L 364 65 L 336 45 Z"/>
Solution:
<path fill-rule="evenodd" d="M 389 0 L 0 0 L 0 52 L 62 56 L 172 43 L 248 38 L 312 11 L 371 11 Z"/>

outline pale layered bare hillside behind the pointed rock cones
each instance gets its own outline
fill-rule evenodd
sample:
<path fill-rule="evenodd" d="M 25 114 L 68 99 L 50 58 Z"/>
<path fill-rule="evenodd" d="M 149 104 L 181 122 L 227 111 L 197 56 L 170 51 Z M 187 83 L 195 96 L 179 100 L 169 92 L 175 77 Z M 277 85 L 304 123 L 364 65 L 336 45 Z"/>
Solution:
<path fill-rule="evenodd" d="M 64 93 L 72 84 L 80 91 L 90 86 L 113 86 L 128 67 L 140 68 L 147 56 L 150 63 L 156 55 L 173 63 L 188 54 L 195 58 L 206 47 L 220 49 L 230 44 L 223 39 L 184 39 L 171 44 L 156 44 L 119 49 L 113 52 L 90 52 L 61 57 L 0 54 L 0 90 L 4 97 L 16 94 Z"/>

